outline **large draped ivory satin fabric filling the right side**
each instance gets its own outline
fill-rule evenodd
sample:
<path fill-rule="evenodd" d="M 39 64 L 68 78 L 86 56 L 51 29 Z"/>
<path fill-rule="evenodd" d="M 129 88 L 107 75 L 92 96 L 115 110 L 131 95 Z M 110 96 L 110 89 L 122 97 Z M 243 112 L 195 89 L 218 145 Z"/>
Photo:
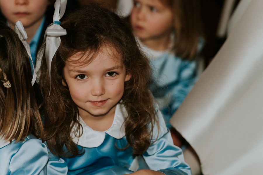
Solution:
<path fill-rule="evenodd" d="M 263 174 L 262 9 L 252 0 L 170 120 L 204 175 Z"/>

